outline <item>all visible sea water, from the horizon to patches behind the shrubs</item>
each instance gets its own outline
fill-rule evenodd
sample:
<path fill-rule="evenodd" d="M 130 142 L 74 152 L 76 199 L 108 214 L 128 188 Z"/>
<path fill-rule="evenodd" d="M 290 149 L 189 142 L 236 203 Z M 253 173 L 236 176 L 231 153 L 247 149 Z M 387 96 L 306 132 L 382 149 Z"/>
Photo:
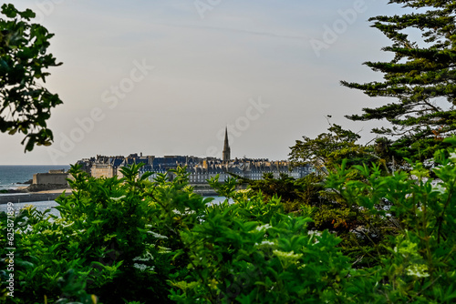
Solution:
<path fill-rule="evenodd" d="M 26 187 L 26 181 L 33 178 L 33 175 L 36 173 L 47 173 L 49 170 L 60 170 L 60 169 L 69 169 L 69 165 L 36 165 L 36 166 L 0 166 L 0 190 L 8 190 L 8 189 L 17 189 L 19 187 Z M 0 196 L 5 195 L 0 193 Z M 222 197 L 212 197 L 214 200 L 212 203 L 219 203 L 223 202 L 225 198 Z M 54 200 L 49 201 L 36 201 L 36 202 L 27 202 L 27 203 L 15 203 L 14 208 L 16 212 L 21 208 L 26 207 L 27 205 L 33 205 L 37 210 L 44 211 L 46 209 L 51 209 L 50 213 L 59 216 L 58 211 L 56 208 L 57 203 Z M 7 205 L 0 204 L 0 212 L 6 211 Z"/>

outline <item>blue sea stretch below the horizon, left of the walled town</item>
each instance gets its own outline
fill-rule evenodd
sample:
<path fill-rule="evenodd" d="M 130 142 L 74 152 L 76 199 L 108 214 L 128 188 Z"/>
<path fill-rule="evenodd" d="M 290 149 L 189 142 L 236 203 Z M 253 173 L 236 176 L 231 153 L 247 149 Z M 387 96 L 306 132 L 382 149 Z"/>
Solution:
<path fill-rule="evenodd" d="M 49 170 L 69 169 L 69 165 L 48 166 L 0 166 L 0 190 L 25 187 L 22 185 L 33 178 L 36 173 L 47 173 Z"/>

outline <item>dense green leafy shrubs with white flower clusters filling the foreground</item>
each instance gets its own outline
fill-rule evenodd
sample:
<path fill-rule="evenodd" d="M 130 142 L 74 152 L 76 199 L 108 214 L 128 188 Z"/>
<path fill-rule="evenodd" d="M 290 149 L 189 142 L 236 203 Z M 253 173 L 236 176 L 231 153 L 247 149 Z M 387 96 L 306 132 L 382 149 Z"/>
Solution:
<path fill-rule="evenodd" d="M 447 142 L 456 147 L 456 139 Z M 277 196 L 236 191 L 234 179 L 211 181 L 233 199 L 213 205 L 192 192 L 183 168 L 172 181 L 150 182 L 138 177 L 139 166 L 99 179 L 72 167 L 74 192 L 57 199 L 61 218 L 32 207 L 14 218 L 15 297 L 8 300 L 451 303 L 454 147 L 436 153 L 436 180 L 420 164 L 386 176 L 377 166 L 343 164 L 319 184 L 322 203 L 297 198 L 303 204 L 295 212 Z M 271 184 L 290 182 L 283 179 Z M 5 213 L 0 222 L 5 231 Z"/>

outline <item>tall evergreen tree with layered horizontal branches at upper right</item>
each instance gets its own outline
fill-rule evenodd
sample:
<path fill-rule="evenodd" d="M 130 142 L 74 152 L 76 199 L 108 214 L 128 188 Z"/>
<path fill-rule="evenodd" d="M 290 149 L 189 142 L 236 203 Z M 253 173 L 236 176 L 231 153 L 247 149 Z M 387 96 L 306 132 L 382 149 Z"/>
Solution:
<path fill-rule="evenodd" d="M 456 130 L 456 1 L 390 0 L 414 13 L 372 17 L 372 27 L 392 40 L 382 50 L 394 53 L 390 62 L 367 62 L 384 74 L 381 82 L 365 84 L 342 81 L 368 96 L 396 97 L 385 106 L 364 108 L 352 120 L 386 119 L 390 127 L 373 133 L 394 138 L 393 150 L 402 157 L 431 157 Z M 409 38 L 420 33 L 418 41 Z"/>

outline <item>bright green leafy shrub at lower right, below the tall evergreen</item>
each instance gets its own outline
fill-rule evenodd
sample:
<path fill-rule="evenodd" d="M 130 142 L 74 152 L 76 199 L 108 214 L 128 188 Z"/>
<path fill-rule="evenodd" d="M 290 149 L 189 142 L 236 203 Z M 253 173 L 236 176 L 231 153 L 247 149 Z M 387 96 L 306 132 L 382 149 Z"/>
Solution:
<path fill-rule="evenodd" d="M 420 163 L 410 173 L 395 172 L 387 177 L 380 176 L 378 167 L 351 169 L 365 181 L 347 180 L 350 170 L 342 167 L 327 180 L 327 187 L 347 202 L 395 228 L 386 236 L 388 242 L 381 244 L 388 251 L 378 253 L 381 264 L 359 271 L 371 278 L 359 292 L 371 292 L 375 283 L 378 288 L 372 299 L 376 302 L 450 303 L 456 299 L 452 283 L 456 276 L 456 139 L 445 141 L 453 147 L 436 153 L 436 180 L 427 177 L 429 172 Z"/>

